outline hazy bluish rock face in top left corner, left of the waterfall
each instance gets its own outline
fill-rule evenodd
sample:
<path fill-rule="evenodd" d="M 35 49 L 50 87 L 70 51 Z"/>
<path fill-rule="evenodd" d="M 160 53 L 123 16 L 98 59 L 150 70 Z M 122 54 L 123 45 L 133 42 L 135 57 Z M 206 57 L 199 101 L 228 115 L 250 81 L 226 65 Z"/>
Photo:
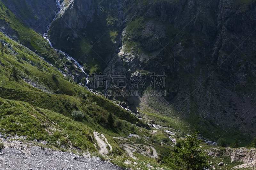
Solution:
<path fill-rule="evenodd" d="M 55 16 L 56 0 L 2 1 L 14 15 L 38 33 L 46 33 Z"/>

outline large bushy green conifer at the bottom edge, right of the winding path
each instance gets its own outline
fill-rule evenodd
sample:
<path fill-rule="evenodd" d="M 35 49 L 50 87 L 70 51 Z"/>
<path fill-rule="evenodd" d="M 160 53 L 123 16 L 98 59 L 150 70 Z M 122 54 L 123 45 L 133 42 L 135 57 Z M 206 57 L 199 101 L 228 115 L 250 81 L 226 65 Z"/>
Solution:
<path fill-rule="evenodd" d="M 187 136 L 185 140 L 181 140 L 182 147 L 176 147 L 176 152 L 168 152 L 164 157 L 166 165 L 176 170 L 211 169 L 204 148 L 199 147 L 202 140 L 197 138 L 197 133 L 198 132 L 195 130 L 195 132 Z"/>

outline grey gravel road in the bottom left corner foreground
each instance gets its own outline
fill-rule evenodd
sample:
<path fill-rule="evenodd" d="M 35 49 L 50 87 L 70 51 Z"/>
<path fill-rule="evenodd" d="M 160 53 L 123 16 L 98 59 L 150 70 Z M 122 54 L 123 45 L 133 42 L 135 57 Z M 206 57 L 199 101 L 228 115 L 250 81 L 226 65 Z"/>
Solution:
<path fill-rule="evenodd" d="M 90 155 L 76 155 L 71 152 L 53 151 L 39 146 L 28 146 L 17 141 L 4 142 L 0 151 L 0 170 L 45 169 L 45 170 L 122 170 L 110 162 Z"/>

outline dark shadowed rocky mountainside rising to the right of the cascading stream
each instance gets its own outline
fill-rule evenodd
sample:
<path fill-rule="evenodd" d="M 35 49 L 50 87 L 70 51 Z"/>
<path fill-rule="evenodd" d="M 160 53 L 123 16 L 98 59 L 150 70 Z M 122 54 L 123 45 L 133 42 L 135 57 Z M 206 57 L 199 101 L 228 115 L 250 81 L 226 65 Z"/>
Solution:
<path fill-rule="evenodd" d="M 161 90 L 171 92 L 146 102 L 128 97 L 134 110 L 198 124 L 215 140 L 224 128 L 249 142 L 256 130 L 255 15 L 254 1 L 74 0 L 61 4 L 48 36 L 91 74 L 107 74 L 108 88 L 111 74 L 125 74 L 131 90 L 136 71 L 148 84 L 153 72 L 164 72 Z"/>

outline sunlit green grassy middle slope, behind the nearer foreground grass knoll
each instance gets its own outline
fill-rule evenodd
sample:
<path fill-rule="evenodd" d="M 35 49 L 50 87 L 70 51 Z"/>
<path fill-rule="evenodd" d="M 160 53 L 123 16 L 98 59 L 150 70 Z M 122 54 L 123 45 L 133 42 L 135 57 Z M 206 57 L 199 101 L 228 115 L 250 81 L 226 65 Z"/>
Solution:
<path fill-rule="evenodd" d="M 109 113 L 113 113 L 116 119 L 120 118 L 132 123 L 139 122 L 142 126 L 147 126 L 114 103 L 101 96 L 91 95 L 92 93 L 88 90 L 65 80 L 60 72 L 56 71 L 55 68 L 51 67 L 25 47 L 8 39 L 3 34 L 0 34 L 0 36 L 1 40 L 8 43 L 4 47 L 1 46 L 4 52 L 0 54 L 0 63 L 2 64 L 0 65 L 0 96 L 2 98 L 25 101 L 33 107 L 51 110 L 69 118 L 72 118 L 72 111 L 81 110 L 85 115 L 84 121 L 90 122 L 90 126 L 94 127 L 94 129 L 109 131 L 112 135 L 113 132 L 119 135 L 120 129 L 110 128 L 106 125 L 106 117 Z M 22 55 L 23 58 L 18 60 L 16 58 L 18 55 L 12 52 L 11 49 Z M 39 70 L 34 66 L 34 63 L 39 61 L 47 71 Z M 15 68 L 16 74 L 13 68 Z M 38 84 L 52 91 L 59 89 L 58 92 L 61 94 L 45 93 L 28 85 L 21 77 L 29 78 L 29 82 L 36 77 L 35 79 Z M 107 130 L 104 130 L 103 126 L 107 126 Z M 129 130 L 129 126 L 126 130 Z"/>

